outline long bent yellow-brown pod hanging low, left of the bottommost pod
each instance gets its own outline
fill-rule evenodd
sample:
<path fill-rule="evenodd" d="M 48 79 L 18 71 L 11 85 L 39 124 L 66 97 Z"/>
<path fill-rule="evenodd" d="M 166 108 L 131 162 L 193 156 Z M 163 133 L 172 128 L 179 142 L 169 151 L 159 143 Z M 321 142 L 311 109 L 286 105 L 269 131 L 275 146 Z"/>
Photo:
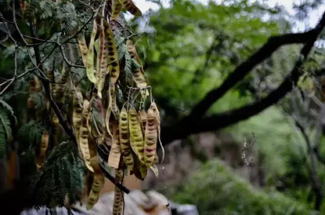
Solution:
<path fill-rule="evenodd" d="M 88 147 L 90 152 L 90 164 L 94 170 L 94 178 L 86 205 L 86 209 L 90 210 L 98 201 L 101 189 L 103 188 L 105 183 L 105 178 L 99 164 L 96 144 L 91 135 L 89 135 L 88 137 Z"/>

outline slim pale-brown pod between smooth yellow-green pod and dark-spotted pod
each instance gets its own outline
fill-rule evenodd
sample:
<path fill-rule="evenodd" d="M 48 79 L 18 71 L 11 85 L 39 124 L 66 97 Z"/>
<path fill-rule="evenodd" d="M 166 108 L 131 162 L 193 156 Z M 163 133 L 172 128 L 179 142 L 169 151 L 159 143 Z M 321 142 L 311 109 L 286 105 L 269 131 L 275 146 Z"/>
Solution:
<path fill-rule="evenodd" d="M 99 53 L 97 55 L 97 70 L 96 70 L 96 79 L 98 81 L 97 84 L 97 93 L 100 98 L 102 98 L 102 90 L 104 88 L 105 77 L 107 74 L 107 54 L 108 54 L 108 47 L 105 46 L 105 29 L 104 29 L 104 22 L 101 19 L 100 25 L 100 38 L 99 38 Z"/>

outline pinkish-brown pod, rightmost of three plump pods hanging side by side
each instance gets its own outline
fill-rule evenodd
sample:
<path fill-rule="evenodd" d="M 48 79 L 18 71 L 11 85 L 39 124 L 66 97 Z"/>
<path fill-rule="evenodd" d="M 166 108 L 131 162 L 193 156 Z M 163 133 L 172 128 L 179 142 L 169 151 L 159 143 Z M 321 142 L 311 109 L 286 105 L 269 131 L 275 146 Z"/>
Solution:
<path fill-rule="evenodd" d="M 154 161 L 154 155 L 157 150 L 157 119 L 156 119 L 156 106 L 151 105 L 147 112 L 146 130 L 144 135 L 144 157 L 145 164 L 150 167 Z"/>

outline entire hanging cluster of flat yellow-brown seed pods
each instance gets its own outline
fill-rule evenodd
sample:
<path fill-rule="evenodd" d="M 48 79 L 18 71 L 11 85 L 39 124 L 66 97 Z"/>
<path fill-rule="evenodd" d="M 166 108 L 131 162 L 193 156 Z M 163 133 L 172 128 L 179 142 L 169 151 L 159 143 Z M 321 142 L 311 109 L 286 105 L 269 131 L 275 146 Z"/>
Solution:
<path fill-rule="evenodd" d="M 159 111 L 132 31 L 120 31 L 115 23 L 121 11 L 136 16 L 141 16 L 141 12 L 131 0 L 105 1 L 100 7 L 102 15 L 94 18 L 90 37 L 85 37 L 84 32 L 78 36 L 91 89 L 85 92 L 73 86 L 72 123 L 80 157 L 92 178 L 88 182 L 87 209 L 98 201 L 104 186 L 103 166 L 115 169 L 116 182 L 123 184 L 126 174 L 144 180 L 148 168 L 158 176 L 158 142 L 164 159 Z M 121 214 L 123 206 L 123 193 L 116 187 L 113 214 Z"/>

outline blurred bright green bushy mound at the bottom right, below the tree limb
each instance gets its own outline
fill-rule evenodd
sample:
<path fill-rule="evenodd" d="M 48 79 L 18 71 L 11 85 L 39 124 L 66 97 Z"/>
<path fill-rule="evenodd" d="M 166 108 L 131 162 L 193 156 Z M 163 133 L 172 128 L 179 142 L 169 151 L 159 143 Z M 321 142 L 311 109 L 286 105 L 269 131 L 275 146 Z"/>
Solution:
<path fill-rule="evenodd" d="M 218 159 L 202 165 L 169 196 L 197 205 L 200 214 L 316 214 L 276 191 L 253 188 Z"/>

